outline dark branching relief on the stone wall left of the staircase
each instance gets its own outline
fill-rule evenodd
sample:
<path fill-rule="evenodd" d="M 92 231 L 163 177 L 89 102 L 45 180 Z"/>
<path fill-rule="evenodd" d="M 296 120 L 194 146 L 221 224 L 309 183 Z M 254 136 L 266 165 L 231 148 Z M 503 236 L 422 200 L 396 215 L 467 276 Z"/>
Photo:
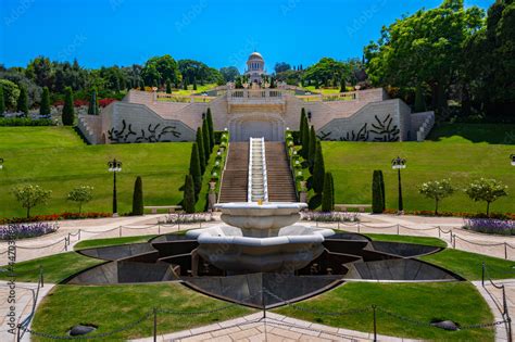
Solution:
<path fill-rule="evenodd" d="M 113 143 L 172 141 L 172 139 L 165 139 L 167 135 L 180 138 L 181 132 L 177 130 L 176 126 L 163 126 L 161 128 L 161 124 L 154 126 L 149 124 L 147 129 L 141 129 L 141 134 L 138 135 L 133 130 L 133 125 L 127 125 L 125 119 L 122 121 L 122 129 L 116 130 L 113 127 L 108 130 L 109 140 Z"/>

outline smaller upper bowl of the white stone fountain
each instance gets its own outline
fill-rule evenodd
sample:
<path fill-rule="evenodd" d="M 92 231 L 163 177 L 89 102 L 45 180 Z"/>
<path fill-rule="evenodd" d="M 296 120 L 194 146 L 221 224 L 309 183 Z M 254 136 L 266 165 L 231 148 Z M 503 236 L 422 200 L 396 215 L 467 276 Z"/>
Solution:
<path fill-rule="evenodd" d="M 307 207 L 305 203 L 224 203 L 216 204 L 222 210 L 222 220 L 229 226 L 241 228 L 242 236 L 253 238 L 277 237 L 280 228 L 300 219 L 299 212 Z"/>

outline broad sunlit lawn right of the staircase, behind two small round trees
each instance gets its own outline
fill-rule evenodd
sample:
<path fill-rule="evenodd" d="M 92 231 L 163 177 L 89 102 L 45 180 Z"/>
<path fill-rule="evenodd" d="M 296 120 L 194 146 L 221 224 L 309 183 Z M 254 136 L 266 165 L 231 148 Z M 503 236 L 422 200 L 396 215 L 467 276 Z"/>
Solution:
<path fill-rule="evenodd" d="M 338 138 L 338 137 L 334 137 Z M 491 211 L 515 213 L 514 167 L 508 156 L 512 145 L 457 142 L 323 142 L 326 170 L 335 178 L 335 203 L 370 203 L 372 174 L 382 169 L 388 208 L 397 208 L 397 170 L 391 168 L 391 160 L 398 155 L 407 160 L 402 170 L 404 210 L 434 211 L 435 203 L 418 193 L 418 186 L 432 179 L 451 178 L 457 188 L 470 180 L 487 177 L 503 181 L 510 187 L 508 197 L 501 198 L 491 205 Z M 456 191 L 440 203 L 440 211 L 486 212 L 482 202 L 473 202 L 464 193 Z"/>

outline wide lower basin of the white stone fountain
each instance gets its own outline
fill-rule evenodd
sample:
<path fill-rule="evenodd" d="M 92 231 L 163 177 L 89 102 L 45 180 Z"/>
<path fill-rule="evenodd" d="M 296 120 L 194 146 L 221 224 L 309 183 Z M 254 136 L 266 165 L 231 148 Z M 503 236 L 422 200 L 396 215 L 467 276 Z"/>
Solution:
<path fill-rule="evenodd" d="M 197 253 L 210 264 L 229 273 L 293 273 L 324 252 L 330 229 L 293 225 L 272 238 L 246 237 L 242 229 L 226 225 L 187 232 L 199 242 Z"/>

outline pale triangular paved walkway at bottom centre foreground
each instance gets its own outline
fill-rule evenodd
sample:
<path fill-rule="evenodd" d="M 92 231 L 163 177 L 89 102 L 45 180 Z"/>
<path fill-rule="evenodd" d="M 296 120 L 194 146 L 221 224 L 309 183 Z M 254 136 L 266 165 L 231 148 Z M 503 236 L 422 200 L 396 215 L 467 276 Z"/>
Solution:
<path fill-rule="evenodd" d="M 387 335 L 377 335 L 379 341 L 417 341 Z M 348 329 L 328 327 L 287 316 L 266 313 L 248 315 L 201 328 L 160 335 L 158 341 L 168 342 L 290 342 L 290 341 L 373 341 L 374 334 Z M 134 342 L 151 342 L 153 338 L 131 340 Z"/>

